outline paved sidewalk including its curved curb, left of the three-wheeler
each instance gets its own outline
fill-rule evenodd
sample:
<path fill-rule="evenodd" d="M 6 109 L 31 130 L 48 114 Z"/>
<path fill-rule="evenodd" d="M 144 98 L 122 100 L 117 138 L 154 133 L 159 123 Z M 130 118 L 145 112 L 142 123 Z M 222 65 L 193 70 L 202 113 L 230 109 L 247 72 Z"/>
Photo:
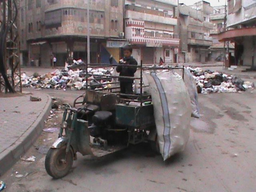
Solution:
<path fill-rule="evenodd" d="M 51 110 L 51 97 L 30 101 L 31 95 L 0 97 L 0 176 L 3 175 L 36 141 Z"/>

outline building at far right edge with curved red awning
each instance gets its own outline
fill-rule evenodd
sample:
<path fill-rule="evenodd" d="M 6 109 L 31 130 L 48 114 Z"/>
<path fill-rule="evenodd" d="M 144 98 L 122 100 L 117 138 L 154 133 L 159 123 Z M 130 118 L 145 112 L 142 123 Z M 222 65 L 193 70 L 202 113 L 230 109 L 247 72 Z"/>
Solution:
<path fill-rule="evenodd" d="M 256 2 L 254 0 L 228 0 L 227 27 L 218 34 L 220 41 L 235 44 L 234 62 L 226 54 L 225 66 L 231 64 L 256 67 Z"/>

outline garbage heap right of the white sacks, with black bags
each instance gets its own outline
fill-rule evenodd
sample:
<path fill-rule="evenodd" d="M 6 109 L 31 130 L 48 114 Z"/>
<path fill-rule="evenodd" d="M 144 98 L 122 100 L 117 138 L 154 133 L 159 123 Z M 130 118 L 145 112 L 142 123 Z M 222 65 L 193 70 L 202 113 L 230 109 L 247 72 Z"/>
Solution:
<path fill-rule="evenodd" d="M 234 75 L 210 70 L 204 71 L 199 67 L 195 69 L 187 67 L 187 69 L 193 74 L 193 78 L 197 83 L 198 93 L 236 93 L 254 88 L 253 82 L 243 81 Z"/>

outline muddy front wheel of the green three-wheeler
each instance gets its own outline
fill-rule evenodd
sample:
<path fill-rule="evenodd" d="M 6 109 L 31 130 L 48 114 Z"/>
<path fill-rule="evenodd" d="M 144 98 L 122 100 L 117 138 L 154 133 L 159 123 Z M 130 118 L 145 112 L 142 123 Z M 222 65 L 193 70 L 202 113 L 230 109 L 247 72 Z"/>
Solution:
<path fill-rule="evenodd" d="M 47 173 L 59 179 L 66 176 L 73 165 L 73 153 L 71 150 L 66 154 L 66 146 L 59 149 L 49 149 L 45 158 L 45 169 Z"/>

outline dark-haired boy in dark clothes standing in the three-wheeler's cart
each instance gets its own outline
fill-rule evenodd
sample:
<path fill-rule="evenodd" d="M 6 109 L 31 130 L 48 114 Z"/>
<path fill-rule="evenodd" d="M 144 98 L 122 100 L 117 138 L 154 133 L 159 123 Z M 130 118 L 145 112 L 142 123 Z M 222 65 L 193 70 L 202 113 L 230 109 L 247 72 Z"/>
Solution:
<path fill-rule="evenodd" d="M 134 77 L 134 73 L 137 71 L 137 61 L 131 56 L 133 48 L 129 45 L 123 48 L 124 58 L 119 61 L 117 66 L 117 72 L 119 76 Z M 121 66 L 122 65 L 122 66 Z M 126 65 L 126 66 L 124 66 Z M 120 92 L 122 94 L 133 94 L 133 81 L 134 79 L 119 78 L 120 81 Z"/>

